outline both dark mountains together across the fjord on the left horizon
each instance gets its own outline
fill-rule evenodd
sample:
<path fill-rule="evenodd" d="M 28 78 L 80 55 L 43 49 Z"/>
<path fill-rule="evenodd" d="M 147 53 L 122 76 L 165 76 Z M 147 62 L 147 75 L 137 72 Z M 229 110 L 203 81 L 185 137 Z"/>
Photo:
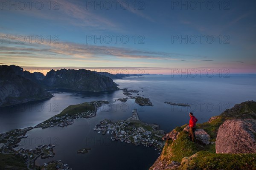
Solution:
<path fill-rule="evenodd" d="M 115 75 L 105 76 L 85 69 L 51 70 L 44 76 L 39 72 L 23 71 L 16 65 L 0 65 L 0 73 L 0 107 L 47 99 L 53 95 L 46 90 L 56 88 L 95 92 L 119 90 L 111 79 Z"/>

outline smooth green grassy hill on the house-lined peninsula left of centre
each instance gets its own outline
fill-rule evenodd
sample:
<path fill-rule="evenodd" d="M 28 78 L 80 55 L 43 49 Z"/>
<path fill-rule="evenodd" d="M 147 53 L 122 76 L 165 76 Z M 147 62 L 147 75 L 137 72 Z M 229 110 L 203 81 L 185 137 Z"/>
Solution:
<path fill-rule="evenodd" d="M 78 105 L 70 105 L 67 108 L 65 108 L 61 113 L 57 114 L 56 116 L 64 116 L 66 114 L 68 115 L 74 115 L 76 113 L 82 113 L 85 111 L 95 111 L 95 107 L 93 105 L 88 104 L 87 102 L 81 103 Z"/>

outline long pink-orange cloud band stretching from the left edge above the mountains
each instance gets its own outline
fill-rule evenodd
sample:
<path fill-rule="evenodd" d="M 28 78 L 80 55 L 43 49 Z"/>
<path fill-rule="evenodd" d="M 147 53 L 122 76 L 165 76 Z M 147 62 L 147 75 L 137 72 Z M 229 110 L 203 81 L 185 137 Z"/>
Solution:
<path fill-rule="evenodd" d="M 7 40 L 8 41 L 8 40 Z M 9 44 L 1 46 L 2 57 L 17 57 L 21 54 L 28 54 L 26 57 L 56 58 L 56 59 L 157 59 L 157 60 L 184 60 L 184 58 L 202 58 L 200 55 L 178 54 L 163 51 L 145 51 L 133 48 L 111 47 L 104 45 L 89 45 L 73 42 L 59 42 L 38 44 Z"/>

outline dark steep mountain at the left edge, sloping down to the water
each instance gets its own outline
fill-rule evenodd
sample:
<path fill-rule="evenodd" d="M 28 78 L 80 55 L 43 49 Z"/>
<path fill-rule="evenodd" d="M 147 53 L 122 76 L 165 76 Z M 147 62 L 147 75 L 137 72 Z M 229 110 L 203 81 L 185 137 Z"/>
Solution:
<path fill-rule="evenodd" d="M 0 65 L 0 107 L 52 97 L 35 82 L 24 78 L 23 69 Z"/>

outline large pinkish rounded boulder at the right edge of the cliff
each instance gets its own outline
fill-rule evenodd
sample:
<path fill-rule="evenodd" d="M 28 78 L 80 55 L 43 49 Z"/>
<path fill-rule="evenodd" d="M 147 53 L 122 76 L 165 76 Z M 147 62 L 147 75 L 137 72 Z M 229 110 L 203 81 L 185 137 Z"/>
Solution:
<path fill-rule="evenodd" d="M 256 120 L 230 119 L 218 129 L 216 153 L 256 153 Z"/>

